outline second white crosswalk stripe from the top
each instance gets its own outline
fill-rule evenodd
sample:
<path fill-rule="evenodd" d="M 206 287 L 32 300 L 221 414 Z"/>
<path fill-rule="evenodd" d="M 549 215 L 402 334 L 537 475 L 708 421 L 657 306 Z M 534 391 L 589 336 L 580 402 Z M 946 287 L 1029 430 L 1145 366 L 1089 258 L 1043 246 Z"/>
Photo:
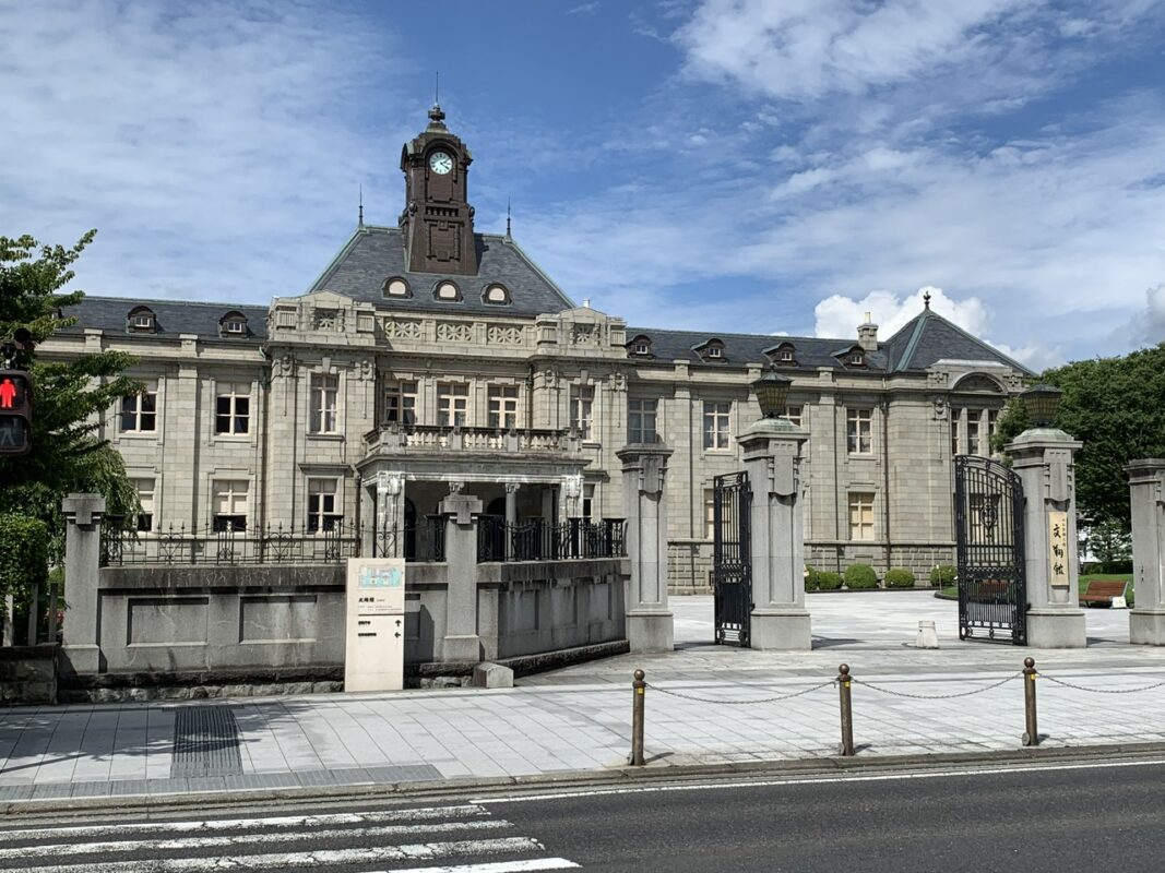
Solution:
<path fill-rule="evenodd" d="M 358 837 L 360 839 L 375 837 L 415 837 L 423 838 L 426 833 L 449 833 L 452 831 L 503 830 L 513 828 L 504 818 L 489 818 L 481 822 L 438 822 L 435 824 L 388 824 L 379 828 L 360 830 L 317 830 L 295 833 L 236 833 L 230 837 L 188 837 L 184 839 L 111 839 L 101 843 L 37 843 L 19 849 L 0 849 L 0 861 L 16 858 L 59 858 L 68 854 L 107 854 L 110 852 L 141 851 L 177 851 L 183 849 L 221 849 L 224 846 L 245 846 L 255 843 L 270 845 L 274 843 L 302 843 L 305 839 L 327 840 Z"/>

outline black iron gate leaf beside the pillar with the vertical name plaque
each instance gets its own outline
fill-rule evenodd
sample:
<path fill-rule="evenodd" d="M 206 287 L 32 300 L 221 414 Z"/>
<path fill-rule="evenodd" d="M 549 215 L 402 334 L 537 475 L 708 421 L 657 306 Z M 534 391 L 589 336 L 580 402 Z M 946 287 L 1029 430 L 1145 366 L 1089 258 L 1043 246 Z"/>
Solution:
<path fill-rule="evenodd" d="M 959 639 L 1028 645 L 1023 484 L 997 461 L 954 459 Z"/>

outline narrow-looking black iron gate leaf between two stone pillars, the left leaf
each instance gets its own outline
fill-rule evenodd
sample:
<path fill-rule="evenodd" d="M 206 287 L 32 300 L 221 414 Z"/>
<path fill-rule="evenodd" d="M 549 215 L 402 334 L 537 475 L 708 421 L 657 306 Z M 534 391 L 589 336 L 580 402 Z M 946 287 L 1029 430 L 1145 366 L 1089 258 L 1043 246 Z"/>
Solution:
<path fill-rule="evenodd" d="M 718 644 L 748 646 L 753 612 L 751 504 L 747 473 L 716 476 L 712 481 L 712 588 Z"/>

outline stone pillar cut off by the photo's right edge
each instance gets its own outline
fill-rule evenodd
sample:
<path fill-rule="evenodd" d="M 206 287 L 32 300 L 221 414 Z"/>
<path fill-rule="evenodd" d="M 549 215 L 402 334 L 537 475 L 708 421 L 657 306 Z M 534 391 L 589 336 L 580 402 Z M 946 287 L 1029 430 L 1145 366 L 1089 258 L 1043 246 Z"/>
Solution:
<path fill-rule="evenodd" d="M 1132 582 L 1129 641 L 1165 646 L 1165 457 L 1132 461 Z"/>

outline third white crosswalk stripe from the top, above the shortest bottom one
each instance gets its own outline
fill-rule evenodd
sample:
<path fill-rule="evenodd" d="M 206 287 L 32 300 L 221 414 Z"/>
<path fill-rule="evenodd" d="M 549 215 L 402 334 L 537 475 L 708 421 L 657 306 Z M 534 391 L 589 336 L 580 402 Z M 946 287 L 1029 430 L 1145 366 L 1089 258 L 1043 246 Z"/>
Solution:
<path fill-rule="evenodd" d="M 230 858 L 143 858 L 105 864 L 54 864 L 50 867 L 26 867 L 22 873 L 221 873 L 221 871 L 304 870 L 312 867 L 366 865 L 381 861 L 412 861 L 450 858 L 459 854 L 509 854 L 541 852 L 543 845 L 529 837 L 471 839 L 456 843 L 414 843 L 402 846 L 366 846 L 361 849 L 320 849 L 315 852 L 284 854 L 236 854 Z"/>

